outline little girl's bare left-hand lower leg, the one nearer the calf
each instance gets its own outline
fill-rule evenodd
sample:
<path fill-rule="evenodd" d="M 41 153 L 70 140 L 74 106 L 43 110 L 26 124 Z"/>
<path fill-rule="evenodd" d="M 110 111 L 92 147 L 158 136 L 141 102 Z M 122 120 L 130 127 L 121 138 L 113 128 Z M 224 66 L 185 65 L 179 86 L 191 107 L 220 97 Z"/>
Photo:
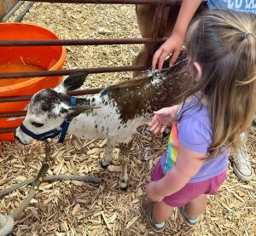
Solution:
<path fill-rule="evenodd" d="M 155 202 L 152 211 L 152 220 L 156 223 L 165 222 L 172 215 L 173 207 L 165 202 Z"/>

